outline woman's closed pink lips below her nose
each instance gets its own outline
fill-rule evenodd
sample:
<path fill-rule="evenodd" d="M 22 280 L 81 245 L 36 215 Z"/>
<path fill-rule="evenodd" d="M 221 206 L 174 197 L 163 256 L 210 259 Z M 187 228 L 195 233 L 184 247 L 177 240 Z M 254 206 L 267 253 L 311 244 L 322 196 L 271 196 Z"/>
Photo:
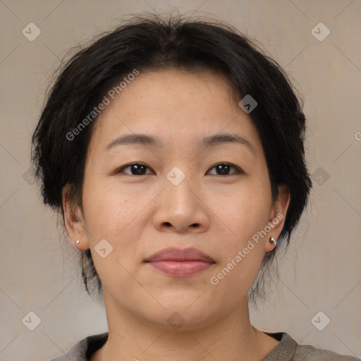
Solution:
<path fill-rule="evenodd" d="M 155 253 L 145 262 L 165 274 L 176 277 L 193 276 L 216 262 L 195 248 L 166 248 Z"/>

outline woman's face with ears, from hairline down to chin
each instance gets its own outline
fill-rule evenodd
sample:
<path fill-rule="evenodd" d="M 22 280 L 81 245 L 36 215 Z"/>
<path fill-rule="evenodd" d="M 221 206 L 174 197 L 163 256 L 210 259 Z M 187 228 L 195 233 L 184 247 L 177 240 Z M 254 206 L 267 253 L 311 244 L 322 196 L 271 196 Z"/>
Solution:
<path fill-rule="evenodd" d="M 157 142 L 121 142 L 138 133 Z M 82 212 L 67 210 L 66 226 L 90 247 L 106 306 L 164 327 L 178 312 L 192 329 L 245 305 L 287 207 L 286 192 L 271 200 L 259 135 L 226 82 L 172 69 L 140 73 L 102 111 Z M 196 248 L 213 263 L 160 262 L 162 271 L 145 262 L 168 247 Z"/>

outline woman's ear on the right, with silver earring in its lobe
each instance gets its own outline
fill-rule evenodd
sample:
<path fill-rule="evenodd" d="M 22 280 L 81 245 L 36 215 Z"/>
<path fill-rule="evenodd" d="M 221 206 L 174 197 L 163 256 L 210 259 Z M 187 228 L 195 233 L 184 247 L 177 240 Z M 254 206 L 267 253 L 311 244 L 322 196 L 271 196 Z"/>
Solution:
<path fill-rule="evenodd" d="M 279 195 L 269 213 L 269 227 L 271 228 L 271 231 L 267 234 L 264 252 L 274 250 L 275 245 L 274 243 L 269 242 L 269 238 L 273 237 L 275 240 L 279 238 L 285 224 L 287 209 L 290 204 L 290 191 L 286 185 L 279 185 L 278 190 Z"/>

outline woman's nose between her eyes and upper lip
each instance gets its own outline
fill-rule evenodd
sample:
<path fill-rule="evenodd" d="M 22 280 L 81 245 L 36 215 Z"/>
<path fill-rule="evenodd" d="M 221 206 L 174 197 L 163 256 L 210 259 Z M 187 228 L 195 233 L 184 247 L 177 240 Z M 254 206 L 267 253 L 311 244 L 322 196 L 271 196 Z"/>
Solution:
<path fill-rule="evenodd" d="M 202 233 L 209 228 L 210 213 L 199 185 L 187 176 L 178 185 L 166 178 L 157 197 L 154 227 L 165 232 Z"/>

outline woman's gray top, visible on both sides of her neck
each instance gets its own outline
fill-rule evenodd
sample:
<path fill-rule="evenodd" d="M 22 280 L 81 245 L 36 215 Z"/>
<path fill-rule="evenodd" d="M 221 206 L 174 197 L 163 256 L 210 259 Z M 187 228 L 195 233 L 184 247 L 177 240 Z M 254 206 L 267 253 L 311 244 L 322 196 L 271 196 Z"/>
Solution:
<path fill-rule="evenodd" d="M 286 332 L 265 334 L 280 341 L 262 361 L 357 361 L 358 357 L 338 355 L 323 348 L 314 348 L 311 345 L 300 345 Z M 97 334 L 83 338 L 62 356 L 50 361 L 88 361 L 90 355 L 99 350 L 106 340 L 108 333 Z"/>

